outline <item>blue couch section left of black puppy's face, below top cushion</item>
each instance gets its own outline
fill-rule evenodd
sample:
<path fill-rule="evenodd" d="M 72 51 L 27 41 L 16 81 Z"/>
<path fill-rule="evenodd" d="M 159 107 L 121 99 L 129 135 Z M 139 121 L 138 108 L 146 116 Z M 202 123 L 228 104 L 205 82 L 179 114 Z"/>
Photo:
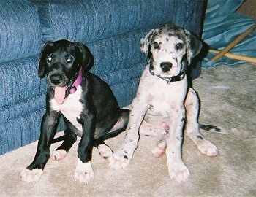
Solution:
<path fill-rule="evenodd" d="M 38 56 L 0 63 L 0 107 L 45 93 L 45 80 L 37 77 Z"/>

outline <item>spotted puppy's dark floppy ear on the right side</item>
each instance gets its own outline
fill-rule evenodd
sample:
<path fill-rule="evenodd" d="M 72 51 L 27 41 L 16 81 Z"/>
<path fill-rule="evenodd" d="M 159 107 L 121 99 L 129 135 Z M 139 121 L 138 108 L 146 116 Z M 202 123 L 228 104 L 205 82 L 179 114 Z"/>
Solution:
<path fill-rule="evenodd" d="M 188 63 L 190 64 L 192 62 L 192 58 L 197 56 L 202 47 L 203 47 L 203 42 L 198 39 L 196 36 L 191 34 L 189 31 L 184 30 L 186 34 L 186 39 L 187 39 L 187 60 Z"/>

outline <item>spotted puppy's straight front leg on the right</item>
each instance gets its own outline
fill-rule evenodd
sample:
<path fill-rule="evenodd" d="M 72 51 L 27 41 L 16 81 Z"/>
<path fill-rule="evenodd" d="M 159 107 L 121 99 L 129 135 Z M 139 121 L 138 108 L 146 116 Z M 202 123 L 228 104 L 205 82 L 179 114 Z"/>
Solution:
<path fill-rule="evenodd" d="M 177 116 L 173 117 L 174 114 Z M 189 178 L 189 169 L 185 166 L 181 158 L 181 145 L 183 142 L 183 126 L 185 122 L 185 107 L 176 106 L 170 110 L 170 135 L 167 137 L 167 167 L 170 179 L 178 182 L 186 181 Z"/>

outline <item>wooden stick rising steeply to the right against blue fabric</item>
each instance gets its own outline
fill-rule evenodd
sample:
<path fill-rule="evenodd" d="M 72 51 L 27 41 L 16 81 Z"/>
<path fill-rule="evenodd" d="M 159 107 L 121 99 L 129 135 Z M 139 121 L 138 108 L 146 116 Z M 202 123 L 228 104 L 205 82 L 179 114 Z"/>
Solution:
<path fill-rule="evenodd" d="M 211 59 L 211 61 L 217 61 L 219 60 L 219 58 L 221 58 L 223 55 L 225 55 L 225 53 L 227 53 L 228 51 L 230 51 L 234 46 L 236 46 L 236 44 L 238 44 L 238 42 L 241 42 L 242 39 L 244 39 L 246 36 L 248 36 L 252 31 L 254 31 L 256 28 L 256 24 L 254 24 L 253 26 L 251 26 L 250 28 L 248 28 L 246 31 L 244 31 L 243 34 L 241 34 L 240 36 L 238 36 L 236 39 L 233 40 L 233 42 L 230 42 L 229 45 L 227 45 L 227 47 L 225 47 L 223 50 L 221 50 L 217 55 L 214 56 L 214 58 Z"/>

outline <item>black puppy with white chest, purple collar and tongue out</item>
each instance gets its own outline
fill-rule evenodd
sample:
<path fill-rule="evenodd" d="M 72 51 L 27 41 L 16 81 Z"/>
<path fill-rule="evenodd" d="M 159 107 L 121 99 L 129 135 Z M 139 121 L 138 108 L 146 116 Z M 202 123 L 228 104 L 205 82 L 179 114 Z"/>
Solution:
<path fill-rule="evenodd" d="M 23 181 L 38 181 L 48 158 L 63 159 L 77 136 L 81 139 L 74 178 L 80 183 L 94 178 L 91 167 L 94 146 L 98 147 L 102 157 L 112 155 L 104 140 L 125 130 L 129 110 L 120 109 L 107 83 L 89 72 L 93 63 L 94 58 L 88 47 L 78 42 L 59 40 L 47 42 L 43 47 L 38 76 L 47 76 L 50 89 L 37 152 L 34 161 L 20 174 Z M 50 144 L 53 143 L 61 115 L 66 125 L 64 140 L 50 155 Z"/>

